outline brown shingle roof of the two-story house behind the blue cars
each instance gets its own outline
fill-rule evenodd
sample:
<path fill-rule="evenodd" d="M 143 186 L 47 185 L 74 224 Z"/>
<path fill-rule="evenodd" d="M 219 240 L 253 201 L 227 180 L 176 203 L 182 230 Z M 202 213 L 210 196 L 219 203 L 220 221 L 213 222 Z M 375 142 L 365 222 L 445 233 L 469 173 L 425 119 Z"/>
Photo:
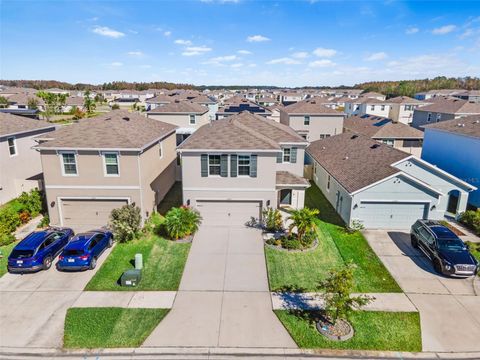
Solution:
<path fill-rule="evenodd" d="M 49 133 L 49 140 L 38 148 L 140 150 L 171 134 L 175 129 L 174 125 L 138 113 L 114 110 Z"/>

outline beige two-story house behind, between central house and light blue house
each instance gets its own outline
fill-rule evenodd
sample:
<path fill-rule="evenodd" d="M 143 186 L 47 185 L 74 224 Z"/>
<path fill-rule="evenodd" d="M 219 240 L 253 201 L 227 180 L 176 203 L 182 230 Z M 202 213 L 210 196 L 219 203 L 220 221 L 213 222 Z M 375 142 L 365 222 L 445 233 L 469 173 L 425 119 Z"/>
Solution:
<path fill-rule="evenodd" d="M 344 117 L 344 113 L 326 107 L 315 99 L 280 109 L 280 123 L 290 126 L 309 142 L 342 133 Z"/>

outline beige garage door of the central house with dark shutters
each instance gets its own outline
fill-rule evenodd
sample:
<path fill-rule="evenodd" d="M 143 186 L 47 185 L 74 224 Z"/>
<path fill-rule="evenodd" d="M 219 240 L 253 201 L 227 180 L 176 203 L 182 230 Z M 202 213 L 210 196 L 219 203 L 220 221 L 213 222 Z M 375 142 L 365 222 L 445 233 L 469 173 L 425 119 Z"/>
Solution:
<path fill-rule="evenodd" d="M 260 217 L 260 201 L 197 201 L 202 224 L 213 226 L 243 226 L 253 216 Z"/>

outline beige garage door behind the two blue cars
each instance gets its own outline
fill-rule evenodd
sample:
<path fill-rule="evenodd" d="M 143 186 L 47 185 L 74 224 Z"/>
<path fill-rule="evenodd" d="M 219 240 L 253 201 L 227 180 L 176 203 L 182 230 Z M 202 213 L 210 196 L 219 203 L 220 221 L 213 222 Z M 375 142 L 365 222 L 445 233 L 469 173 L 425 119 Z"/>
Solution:
<path fill-rule="evenodd" d="M 110 212 L 127 204 L 127 200 L 62 200 L 63 226 L 76 232 L 107 225 Z"/>

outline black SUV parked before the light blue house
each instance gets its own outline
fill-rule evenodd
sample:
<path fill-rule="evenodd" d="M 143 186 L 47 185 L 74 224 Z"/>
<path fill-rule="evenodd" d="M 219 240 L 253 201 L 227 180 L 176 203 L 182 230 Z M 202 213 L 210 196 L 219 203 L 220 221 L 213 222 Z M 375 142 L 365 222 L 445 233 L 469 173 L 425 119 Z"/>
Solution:
<path fill-rule="evenodd" d="M 435 271 L 451 276 L 472 276 L 478 261 L 455 233 L 438 221 L 417 220 L 410 231 L 412 246 L 432 261 Z"/>

